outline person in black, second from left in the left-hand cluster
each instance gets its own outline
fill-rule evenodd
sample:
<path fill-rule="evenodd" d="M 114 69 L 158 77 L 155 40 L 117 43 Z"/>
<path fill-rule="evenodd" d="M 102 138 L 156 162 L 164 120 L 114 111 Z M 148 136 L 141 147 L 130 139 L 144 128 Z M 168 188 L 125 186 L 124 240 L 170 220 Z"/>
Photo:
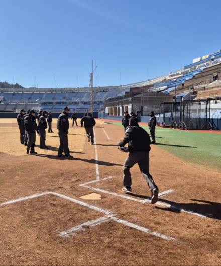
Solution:
<path fill-rule="evenodd" d="M 38 126 L 35 121 L 34 110 L 31 110 L 29 112 L 29 115 L 25 117 L 24 125 L 25 125 L 27 136 L 28 136 L 26 153 L 29 154 L 29 150 L 30 150 L 30 154 L 37 154 L 37 152 L 35 152 L 35 140 L 36 140 L 35 131 L 37 131 L 38 135 L 39 135 L 39 132 L 38 132 Z"/>

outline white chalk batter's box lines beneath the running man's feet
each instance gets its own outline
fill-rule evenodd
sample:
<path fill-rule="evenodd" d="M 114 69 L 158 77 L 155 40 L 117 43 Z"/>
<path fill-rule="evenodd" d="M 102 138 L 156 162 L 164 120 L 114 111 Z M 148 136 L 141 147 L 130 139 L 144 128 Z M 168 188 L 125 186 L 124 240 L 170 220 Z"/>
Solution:
<path fill-rule="evenodd" d="M 149 199 L 140 200 L 140 199 L 136 199 L 134 197 L 126 196 L 126 195 L 119 194 L 119 193 L 116 193 L 116 192 L 112 192 L 112 191 L 103 190 L 103 189 L 99 189 L 99 188 L 96 188 L 96 187 L 88 186 L 88 184 L 97 183 L 99 181 L 103 181 L 103 180 L 107 180 L 107 179 L 111 179 L 111 178 L 114 178 L 114 176 L 108 176 L 107 178 L 103 178 L 103 179 L 99 179 L 99 180 L 92 180 L 92 181 L 89 181 L 89 182 L 86 182 L 86 183 L 83 183 L 83 184 L 79 184 L 79 186 L 87 188 L 87 189 L 95 190 L 95 191 L 98 191 L 98 192 L 101 192 L 101 193 L 114 195 L 114 196 L 117 196 L 117 197 L 120 197 L 120 198 L 124 198 L 124 199 L 127 199 L 127 200 L 136 201 L 136 202 L 143 203 L 143 204 L 151 202 L 149 197 L 148 197 Z M 166 195 L 168 193 L 171 193 L 173 191 L 174 190 L 163 191 L 163 192 L 159 193 L 159 197 L 164 196 L 164 195 Z M 179 208 L 179 207 L 177 207 L 175 205 L 167 204 L 167 203 L 164 203 L 164 202 L 161 202 L 161 201 L 156 202 L 155 205 L 158 205 L 158 206 L 161 206 L 161 207 L 170 208 L 170 209 L 173 209 L 173 210 L 177 210 L 179 212 L 184 212 L 184 213 L 196 215 L 196 216 L 199 216 L 199 217 L 202 217 L 202 218 L 210 217 L 209 215 L 206 215 L 206 214 L 202 214 L 202 213 L 194 212 L 194 211 L 191 211 L 191 210 Z"/>

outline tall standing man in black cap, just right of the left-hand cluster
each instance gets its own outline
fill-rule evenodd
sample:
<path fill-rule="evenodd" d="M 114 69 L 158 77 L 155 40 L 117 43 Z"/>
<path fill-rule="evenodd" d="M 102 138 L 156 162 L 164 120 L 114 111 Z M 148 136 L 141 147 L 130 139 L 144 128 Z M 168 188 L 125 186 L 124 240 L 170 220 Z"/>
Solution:
<path fill-rule="evenodd" d="M 70 151 L 68 148 L 68 129 L 69 129 L 69 121 L 68 121 L 68 112 L 70 109 L 68 107 L 64 108 L 64 111 L 59 115 L 57 121 L 57 129 L 58 136 L 60 139 L 60 146 L 58 149 L 59 157 L 71 158 L 73 156 L 70 155 Z M 64 151 L 64 154 L 62 153 Z"/>

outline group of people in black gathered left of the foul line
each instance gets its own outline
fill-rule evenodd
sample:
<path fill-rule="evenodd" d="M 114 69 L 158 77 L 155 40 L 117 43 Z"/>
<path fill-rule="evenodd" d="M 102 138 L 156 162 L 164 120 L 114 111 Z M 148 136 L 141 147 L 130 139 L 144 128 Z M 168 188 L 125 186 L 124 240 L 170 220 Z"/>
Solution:
<path fill-rule="evenodd" d="M 58 136 L 60 140 L 58 157 L 73 157 L 70 155 L 68 147 L 69 111 L 70 109 L 65 107 L 57 120 Z M 72 114 L 71 119 L 73 120 L 72 126 L 74 126 L 74 122 L 77 125 L 77 114 L 75 112 Z M 17 116 L 17 122 L 20 130 L 20 142 L 21 144 L 27 146 L 27 154 L 37 154 L 35 151 L 36 132 L 40 136 L 40 149 L 49 149 L 45 143 L 46 129 L 48 128 L 48 133 L 53 133 L 52 121 L 52 114 L 48 113 L 47 111 L 40 111 L 37 116 L 33 109 L 28 110 L 27 113 L 23 109 L 20 111 Z M 91 113 L 84 114 L 84 117 L 81 119 L 81 126 L 83 126 L 83 124 L 88 137 L 88 142 L 94 144 L 93 127 L 95 126 L 96 122 Z"/>

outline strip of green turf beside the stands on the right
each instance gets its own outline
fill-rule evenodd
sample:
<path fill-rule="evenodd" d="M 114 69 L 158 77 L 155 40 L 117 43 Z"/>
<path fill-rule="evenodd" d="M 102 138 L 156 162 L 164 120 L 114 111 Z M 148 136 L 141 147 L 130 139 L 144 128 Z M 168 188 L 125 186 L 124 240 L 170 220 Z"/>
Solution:
<path fill-rule="evenodd" d="M 150 133 L 147 126 L 142 127 Z M 187 162 L 221 171 L 221 134 L 157 127 L 155 135 L 157 147 Z"/>

